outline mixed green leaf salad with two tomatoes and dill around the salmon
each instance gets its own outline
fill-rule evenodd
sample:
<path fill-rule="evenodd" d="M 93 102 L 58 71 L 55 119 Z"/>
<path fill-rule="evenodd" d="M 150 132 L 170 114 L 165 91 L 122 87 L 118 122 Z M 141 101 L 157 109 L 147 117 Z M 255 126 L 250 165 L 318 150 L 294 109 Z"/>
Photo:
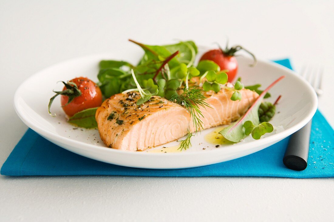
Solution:
<path fill-rule="evenodd" d="M 140 99 L 137 105 L 148 101 L 152 96 L 161 96 L 175 102 L 187 109 L 196 127 L 196 132 L 188 132 L 186 139 L 180 140 L 180 149 L 191 146 L 190 138 L 202 129 L 202 115 L 200 107 L 210 108 L 206 103 L 205 91 L 217 93 L 221 88 L 233 91 L 231 100 L 241 100 L 240 90 L 243 88 L 253 90 L 260 96 L 248 111 L 236 122 L 221 130 L 219 133 L 232 142 L 239 142 L 251 134 L 254 139 L 260 139 L 265 133 L 273 131 L 269 121 L 275 115 L 277 101 L 272 104 L 263 102 L 263 98 L 271 95 L 268 90 L 280 81 L 276 80 L 265 90 L 261 85 L 244 86 L 241 79 L 234 78 L 237 74 L 237 60 L 234 53 L 245 50 L 241 46 L 233 46 L 223 50 L 221 48 L 206 52 L 198 64 L 194 64 L 198 53 L 193 41 L 178 42 L 171 45 L 146 45 L 129 40 L 144 50 L 144 55 L 137 64 L 127 61 L 103 60 L 99 63 L 97 74 L 98 83 L 79 77 L 63 82 L 63 91 L 55 91 L 53 99 L 61 95 L 61 105 L 68 115 L 68 122 L 84 128 L 95 128 L 95 112 L 101 106 L 103 99 L 114 94 L 137 91 Z M 255 56 L 249 51 L 256 64 Z M 193 77 L 199 77 L 200 85 L 191 84 Z"/>

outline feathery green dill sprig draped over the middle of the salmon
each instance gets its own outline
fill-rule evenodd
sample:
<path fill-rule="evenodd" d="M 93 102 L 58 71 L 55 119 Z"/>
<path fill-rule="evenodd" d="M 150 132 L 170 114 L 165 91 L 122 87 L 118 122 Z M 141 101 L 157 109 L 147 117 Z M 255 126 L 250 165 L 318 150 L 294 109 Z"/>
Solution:
<path fill-rule="evenodd" d="M 175 94 L 171 98 L 171 101 L 184 106 L 188 110 L 195 126 L 195 133 L 203 129 L 203 122 L 200 119 L 200 117 L 203 117 L 203 114 L 200 111 L 200 107 L 210 107 L 209 104 L 205 102 L 206 99 L 207 98 L 203 95 L 203 90 L 196 86 L 185 88 L 181 95 Z"/>

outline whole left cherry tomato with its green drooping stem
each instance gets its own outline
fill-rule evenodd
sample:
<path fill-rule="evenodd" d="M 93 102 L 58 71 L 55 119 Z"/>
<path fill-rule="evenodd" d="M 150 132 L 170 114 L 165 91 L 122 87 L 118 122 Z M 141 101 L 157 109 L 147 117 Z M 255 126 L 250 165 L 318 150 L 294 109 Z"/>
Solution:
<path fill-rule="evenodd" d="M 73 116 L 75 113 L 82 110 L 98 107 L 102 104 L 102 92 L 99 86 L 92 80 L 79 77 L 64 83 L 63 91 L 55 92 L 49 102 L 49 114 L 50 106 L 53 99 L 57 95 L 61 95 L 61 107 L 68 116 Z"/>

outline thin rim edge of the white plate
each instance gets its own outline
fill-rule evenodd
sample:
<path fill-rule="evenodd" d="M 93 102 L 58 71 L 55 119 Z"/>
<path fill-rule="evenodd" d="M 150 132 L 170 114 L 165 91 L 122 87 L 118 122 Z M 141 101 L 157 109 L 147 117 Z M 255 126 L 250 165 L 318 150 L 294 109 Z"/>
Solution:
<path fill-rule="evenodd" d="M 32 121 L 29 121 L 29 118 L 26 118 L 24 113 L 22 112 L 22 110 L 19 109 L 19 99 L 21 98 L 19 93 L 22 89 L 22 87 L 24 86 L 24 84 L 26 84 L 26 82 L 28 82 L 30 79 L 35 78 L 35 76 L 40 75 L 41 73 L 49 70 L 49 69 L 53 69 L 54 67 L 57 67 L 59 65 L 63 65 L 64 63 L 68 63 L 68 62 L 74 62 L 76 60 L 83 60 L 83 59 L 89 59 L 89 58 L 95 58 L 95 57 L 105 57 L 105 56 L 111 56 L 112 53 L 97 53 L 97 54 L 91 54 L 91 55 L 86 55 L 86 56 L 80 56 L 80 57 L 74 57 L 74 58 L 70 58 L 70 59 L 66 59 L 63 60 L 61 62 L 57 62 L 53 65 L 50 65 L 36 73 L 34 73 L 33 75 L 29 76 L 27 79 L 25 79 L 16 89 L 15 94 L 14 94 L 14 101 L 13 101 L 13 105 L 14 105 L 14 109 L 15 112 L 17 113 L 17 115 L 19 116 L 19 118 L 22 120 L 22 122 L 24 124 L 26 124 L 29 128 L 31 128 L 32 130 L 34 130 L 36 133 L 38 133 L 39 135 L 43 136 L 44 138 L 52 138 L 52 140 L 56 140 L 56 141 L 61 141 L 61 143 L 74 143 L 74 144 L 78 144 L 80 145 L 80 148 L 90 148 L 90 149 L 99 149 L 103 152 L 111 152 L 111 153 L 127 153 L 128 155 L 132 155 L 132 156 L 192 156 L 192 155 L 198 155 L 203 154 L 202 151 L 192 151 L 192 152 L 176 152 L 176 153 L 151 153 L 151 152 L 132 152 L 132 151 L 128 151 L 128 150 L 119 150 L 119 149 L 106 149 L 107 147 L 101 147 L 101 146 L 97 146 L 94 144 L 88 144 L 82 141 L 77 141 L 77 140 L 73 140 L 71 138 L 67 138 L 52 132 L 49 132 L 47 130 L 44 130 L 43 128 L 41 128 L 40 126 L 34 124 Z M 307 116 L 301 120 L 299 123 L 297 123 L 296 125 L 292 126 L 289 129 L 285 129 L 282 132 L 276 133 L 274 135 L 271 135 L 270 137 L 266 137 L 266 138 L 262 138 L 261 140 L 254 140 L 251 142 L 247 142 L 248 145 L 248 149 L 251 148 L 255 148 L 255 147 L 260 147 L 260 146 L 266 146 L 266 144 L 270 144 L 272 141 L 280 141 L 283 140 L 284 138 L 290 136 L 291 134 L 293 134 L 294 132 L 298 131 L 299 129 L 301 129 L 303 126 L 305 126 L 314 116 L 317 108 L 318 108 L 318 98 L 317 95 L 313 89 L 313 87 L 305 80 L 303 79 L 300 75 L 298 75 L 294 70 L 291 70 L 283 65 L 280 65 L 274 61 L 271 60 L 264 60 L 264 59 L 258 59 L 258 63 L 264 63 L 266 65 L 270 65 L 270 66 L 275 66 L 278 69 L 284 70 L 285 72 L 288 72 L 289 74 L 291 74 L 292 76 L 298 78 L 302 83 L 304 83 L 304 85 L 306 86 L 306 88 L 308 88 L 308 91 L 311 92 L 312 98 L 310 98 L 311 102 L 312 102 L 312 107 L 309 110 Z M 277 143 L 275 142 L 275 143 Z M 255 144 L 255 145 L 254 145 Z M 233 144 L 233 150 L 234 151 L 239 151 L 244 149 L 244 144 Z M 270 145 L 269 145 L 270 146 Z M 267 148 L 268 146 L 266 146 L 265 148 Z M 247 149 L 247 150 L 248 150 Z M 210 153 L 220 153 L 222 152 L 222 150 L 220 149 L 214 149 L 214 150 L 210 150 Z"/>

